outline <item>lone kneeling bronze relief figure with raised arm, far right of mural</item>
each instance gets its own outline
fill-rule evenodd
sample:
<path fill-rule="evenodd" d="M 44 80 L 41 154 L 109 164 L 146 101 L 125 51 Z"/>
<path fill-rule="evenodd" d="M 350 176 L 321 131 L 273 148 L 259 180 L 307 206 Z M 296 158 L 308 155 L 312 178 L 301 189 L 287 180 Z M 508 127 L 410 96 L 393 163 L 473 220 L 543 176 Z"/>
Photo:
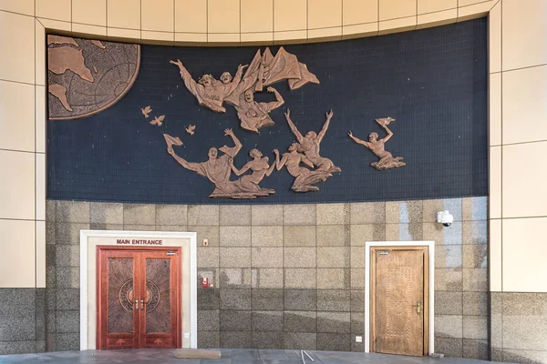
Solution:
<path fill-rule="evenodd" d="M 374 153 L 375 156 L 380 158 L 380 160 L 378 160 L 377 162 L 371 163 L 371 167 L 375 167 L 377 168 L 377 170 L 386 170 L 390 168 L 407 166 L 407 163 L 403 162 L 403 157 L 393 157 L 391 153 L 386 150 L 385 147 L 387 140 L 389 140 L 391 136 L 393 136 L 393 132 L 389 130 L 387 125 L 389 125 L 389 123 L 391 123 L 392 121 L 395 121 L 395 119 L 391 117 L 384 117 L 376 119 L 376 121 L 386 130 L 386 137 L 378 139 L 378 134 L 373 132 L 368 135 L 368 141 L 366 142 L 365 140 L 361 140 L 358 137 L 354 136 L 351 131 L 349 131 L 347 135 L 351 137 L 357 144 L 367 147 L 368 149 L 370 149 L 370 151 L 372 151 L 372 153 Z"/>

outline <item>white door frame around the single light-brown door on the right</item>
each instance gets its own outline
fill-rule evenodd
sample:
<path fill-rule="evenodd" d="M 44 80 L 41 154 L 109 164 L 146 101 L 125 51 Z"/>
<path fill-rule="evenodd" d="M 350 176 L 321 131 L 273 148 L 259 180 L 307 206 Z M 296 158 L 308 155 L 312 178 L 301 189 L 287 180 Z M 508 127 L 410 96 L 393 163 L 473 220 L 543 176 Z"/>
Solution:
<path fill-rule="evenodd" d="M 370 261 L 371 247 L 427 247 L 428 248 L 428 354 L 435 352 L 435 242 L 434 241 L 366 241 L 365 243 L 365 352 L 370 352 L 370 276 L 372 264 Z"/>

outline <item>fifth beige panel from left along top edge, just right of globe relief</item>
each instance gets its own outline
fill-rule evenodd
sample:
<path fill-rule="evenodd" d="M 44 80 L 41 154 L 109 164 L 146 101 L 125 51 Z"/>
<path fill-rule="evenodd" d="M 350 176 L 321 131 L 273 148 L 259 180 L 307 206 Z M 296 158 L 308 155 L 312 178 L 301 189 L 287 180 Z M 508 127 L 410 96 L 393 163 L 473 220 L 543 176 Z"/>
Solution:
<path fill-rule="evenodd" d="M 142 30 L 174 32 L 175 6 L 173 0 L 140 0 L 140 28 Z"/>

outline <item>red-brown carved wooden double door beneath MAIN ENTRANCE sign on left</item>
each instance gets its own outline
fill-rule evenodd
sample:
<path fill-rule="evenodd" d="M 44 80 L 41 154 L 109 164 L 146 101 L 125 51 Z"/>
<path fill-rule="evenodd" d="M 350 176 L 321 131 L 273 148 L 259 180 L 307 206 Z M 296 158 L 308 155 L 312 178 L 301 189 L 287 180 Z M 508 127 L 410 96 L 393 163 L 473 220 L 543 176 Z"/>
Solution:
<path fill-rule="evenodd" d="M 181 347 L 181 251 L 98 247 L 98 349 Z"/>

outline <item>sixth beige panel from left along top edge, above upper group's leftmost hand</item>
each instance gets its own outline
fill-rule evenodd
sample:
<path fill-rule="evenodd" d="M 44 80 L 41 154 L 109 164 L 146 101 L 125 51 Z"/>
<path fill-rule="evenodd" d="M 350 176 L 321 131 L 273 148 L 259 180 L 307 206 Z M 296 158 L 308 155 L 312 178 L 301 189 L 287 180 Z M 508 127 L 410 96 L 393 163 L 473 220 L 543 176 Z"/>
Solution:
<path fill-rule="evenodd" d="M 207 33 L 207 0 L 175 0 L 175 32 Z"/>

